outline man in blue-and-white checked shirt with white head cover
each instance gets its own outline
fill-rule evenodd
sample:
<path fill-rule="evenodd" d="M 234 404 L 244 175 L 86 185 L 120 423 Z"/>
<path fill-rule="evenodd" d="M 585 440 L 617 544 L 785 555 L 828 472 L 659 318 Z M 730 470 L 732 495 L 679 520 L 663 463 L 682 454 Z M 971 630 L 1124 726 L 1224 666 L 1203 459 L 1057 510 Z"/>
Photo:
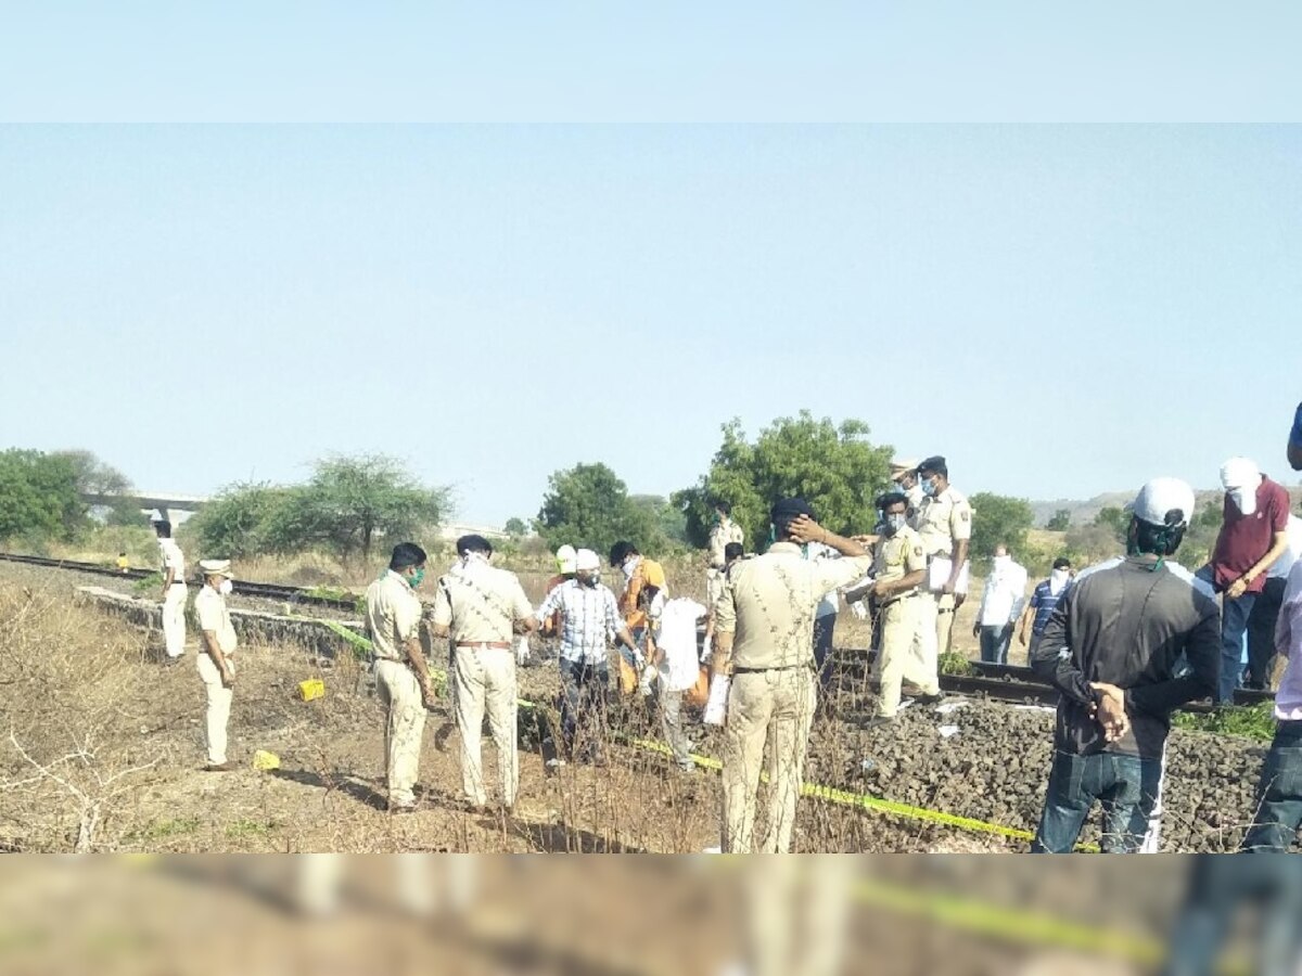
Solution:
<path fill-rule="evenodd" d="M 579 549 L 574 579 L 556 587 L 535 612 L 538 621 L 561 613 L 561 744 L 570 759 L 605 765 L 605 695 L 609 688 L 607 658 L 609 635 L 641 656 L 633 635 L 620 618 L 615 593 L 602 583 L 602 561 L 591 549 Z M 562 760 L 551 759 L 549 765 Z"/>

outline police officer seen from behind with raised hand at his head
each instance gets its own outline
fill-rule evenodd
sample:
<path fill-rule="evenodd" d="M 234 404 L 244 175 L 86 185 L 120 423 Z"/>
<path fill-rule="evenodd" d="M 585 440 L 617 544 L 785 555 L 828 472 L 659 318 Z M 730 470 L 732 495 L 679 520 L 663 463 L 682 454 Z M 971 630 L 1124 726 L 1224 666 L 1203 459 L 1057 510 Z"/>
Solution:
<path fill-rule="evenodd" d="M 763 556 L 733 565 L 715 608 L 711 700 L 727 696 L 723 850 L 729 854 L 790 850 L 818 696 L 814 613 L 824 593 L 872 565 L 859 543 L 827 531 L 812 514 L 803 498 L 777 502 L 771 513 L 777 541 Z M 815 541 L 845 558 L 806 558 L 802 547 Z M 755 791 L 766 742 L 768 820 L 756 845 Z"/>

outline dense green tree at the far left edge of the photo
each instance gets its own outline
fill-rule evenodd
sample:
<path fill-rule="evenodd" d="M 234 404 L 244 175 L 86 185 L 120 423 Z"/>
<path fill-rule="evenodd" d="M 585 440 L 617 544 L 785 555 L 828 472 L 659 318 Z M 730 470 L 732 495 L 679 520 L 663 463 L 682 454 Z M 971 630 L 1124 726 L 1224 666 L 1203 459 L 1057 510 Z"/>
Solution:
<path fill-rule="evenodd" d="M 0 452 L 0 539 L 69 540 L 85 524 L 86 505 L 68 458 Z"/>

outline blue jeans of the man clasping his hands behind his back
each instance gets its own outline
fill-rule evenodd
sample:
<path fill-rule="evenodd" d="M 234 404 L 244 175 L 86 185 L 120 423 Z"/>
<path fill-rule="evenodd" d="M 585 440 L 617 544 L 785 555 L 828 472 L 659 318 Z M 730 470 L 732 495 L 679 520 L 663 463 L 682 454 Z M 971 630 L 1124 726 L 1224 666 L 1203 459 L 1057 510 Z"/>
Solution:
<path fill-rule="evenodd" d="M 1070 854 L 1094 802 L 1103 804 L 1104 854 L 1134 854 L 1143 845 L 1161 783 L 1161 760 L 1098 752 L 1053 753 L 1034 854 Z"/>

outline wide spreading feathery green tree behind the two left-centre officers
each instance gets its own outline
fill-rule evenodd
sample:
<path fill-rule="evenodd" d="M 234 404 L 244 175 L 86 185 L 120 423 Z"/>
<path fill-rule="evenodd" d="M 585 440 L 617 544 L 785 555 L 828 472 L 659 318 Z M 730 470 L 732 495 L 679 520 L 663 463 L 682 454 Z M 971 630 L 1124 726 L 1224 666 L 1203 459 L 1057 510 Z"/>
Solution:
<path fill-rule="evenodd" d="M 275 552 L 318 547 L 368 560 L 379 536 L 401 540 L 435 528 L 449 509 L 447 488 L 428 488 L 380 454 L 318 461 L 305 485 L 271 511 L 266 541 Z"/>

